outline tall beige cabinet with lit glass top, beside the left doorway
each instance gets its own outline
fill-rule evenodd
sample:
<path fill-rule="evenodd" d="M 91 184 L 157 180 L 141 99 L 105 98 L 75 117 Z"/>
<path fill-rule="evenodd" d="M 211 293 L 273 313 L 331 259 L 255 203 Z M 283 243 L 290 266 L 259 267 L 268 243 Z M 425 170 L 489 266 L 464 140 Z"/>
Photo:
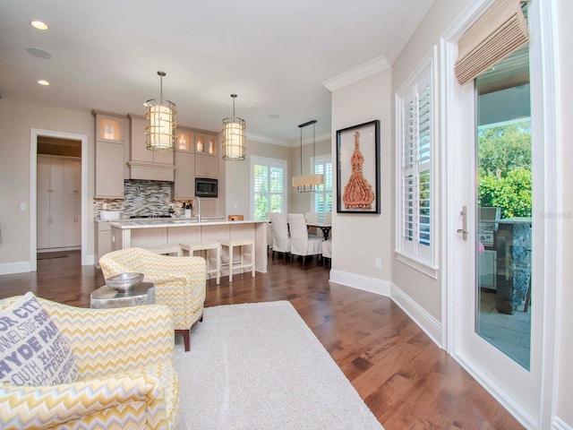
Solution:
<path fill-rule="evenodd" d="M 95 198 L 124 198 L 124 140 L 126 116 L 93 110 L 96 127 Z"/>

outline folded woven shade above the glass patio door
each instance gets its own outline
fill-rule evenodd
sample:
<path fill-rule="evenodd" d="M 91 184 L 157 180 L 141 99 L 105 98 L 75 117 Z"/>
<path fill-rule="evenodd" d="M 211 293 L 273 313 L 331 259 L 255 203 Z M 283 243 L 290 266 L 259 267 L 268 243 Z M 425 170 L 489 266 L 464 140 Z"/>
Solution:
<path fill-rule="evenodd" d="M 472 81 L 528 40 L 521 2 L 497 0 L 458 41 L 458 82 Z"/>

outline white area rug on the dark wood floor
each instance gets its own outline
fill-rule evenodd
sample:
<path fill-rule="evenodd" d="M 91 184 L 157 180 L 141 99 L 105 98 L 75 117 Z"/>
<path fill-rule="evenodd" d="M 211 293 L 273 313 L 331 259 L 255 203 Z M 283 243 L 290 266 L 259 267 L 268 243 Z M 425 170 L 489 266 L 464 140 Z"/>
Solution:
<path fill-rule="evenodd" d="M 175 368 L 180 430 L 382 429 L 287 301 L 205 308 Z"/>

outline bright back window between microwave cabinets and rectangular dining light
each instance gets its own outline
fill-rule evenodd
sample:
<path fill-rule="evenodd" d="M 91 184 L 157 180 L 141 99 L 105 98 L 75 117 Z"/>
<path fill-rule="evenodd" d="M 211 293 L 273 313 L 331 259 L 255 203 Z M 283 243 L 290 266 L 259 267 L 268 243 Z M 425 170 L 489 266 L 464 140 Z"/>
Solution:
<path fill-rule="evenodd" d="M 255 220 L 286 212 L 286 160 L 251 157 L 251 208 Z"/>

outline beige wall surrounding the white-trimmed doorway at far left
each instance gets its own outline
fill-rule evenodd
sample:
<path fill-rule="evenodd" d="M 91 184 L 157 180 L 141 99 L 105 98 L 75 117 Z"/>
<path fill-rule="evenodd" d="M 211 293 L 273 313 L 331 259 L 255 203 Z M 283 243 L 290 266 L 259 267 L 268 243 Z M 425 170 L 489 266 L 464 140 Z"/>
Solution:
<path fill-rule="evenodd" d="M 94 120 L 90 111 L 0 99 L 0 263 L 30 261 L 30 130 L 88 136 L 88 195 L 93 196 Z M 21 211 L 25 202 L 28 210 Z M 87 208 L 88 250 L 93 254 L 91 206 Z"/>

